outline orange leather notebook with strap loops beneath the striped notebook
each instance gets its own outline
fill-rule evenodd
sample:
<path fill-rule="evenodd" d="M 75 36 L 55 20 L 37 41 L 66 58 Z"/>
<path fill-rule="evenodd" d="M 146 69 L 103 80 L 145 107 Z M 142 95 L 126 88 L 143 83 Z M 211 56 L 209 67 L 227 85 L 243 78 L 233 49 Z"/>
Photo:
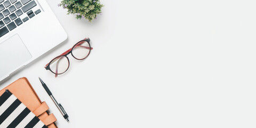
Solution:
<path fill-rule="evenodd" d="M 30 111 L 49 128 L 57 128 L 55 121 L 57 119 L 53 114 L 48 114 L 49 107 L 45 102 L 41 102 L 33 87 L 28 82 L 26 77 L 19 78 L 17 81 L 5 87 L 0 91 L 2 95 L 8 89 L 17 97 Z"/>

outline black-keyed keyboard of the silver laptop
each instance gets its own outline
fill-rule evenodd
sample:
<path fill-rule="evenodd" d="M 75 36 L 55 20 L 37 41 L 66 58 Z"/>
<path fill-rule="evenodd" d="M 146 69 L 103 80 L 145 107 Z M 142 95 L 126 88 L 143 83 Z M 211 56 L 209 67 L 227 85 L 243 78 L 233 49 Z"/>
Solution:
<path fill-rule="evenodd" d="M 33 0 L 0 0 L 0 37 L 40 13 L 40 9 L 31 10 L 36 5 Z M 26 16 L 21 18 L 23 13 Z"/>

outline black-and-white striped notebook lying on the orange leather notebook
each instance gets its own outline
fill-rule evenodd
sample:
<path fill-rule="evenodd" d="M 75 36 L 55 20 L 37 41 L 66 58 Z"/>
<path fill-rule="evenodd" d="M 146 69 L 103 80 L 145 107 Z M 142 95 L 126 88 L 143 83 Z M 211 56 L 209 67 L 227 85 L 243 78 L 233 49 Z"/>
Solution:
<path fill-rule="evenodd" d="M 47 128 L 23 103 L 9 90 L 0 97 L 0 128 Z"/>

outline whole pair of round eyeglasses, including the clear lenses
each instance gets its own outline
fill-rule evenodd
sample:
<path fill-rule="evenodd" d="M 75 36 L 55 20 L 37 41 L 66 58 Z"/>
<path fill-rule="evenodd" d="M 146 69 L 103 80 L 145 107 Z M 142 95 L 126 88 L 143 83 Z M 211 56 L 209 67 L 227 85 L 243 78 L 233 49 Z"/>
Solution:
<path fill-rule="evenodd" d="M 83 60 L 88 57 L 92 49 L 90 38 L 85 38 L 82 41 L 77 42 L 71 49 L 52 59 L 47 63 L 45 69 L 50 70 L 55 74 L 55 77 L 57 77 L 58 75 L 65 73 L 69 68 L 68 54 L 71 53 L 77 60 Z"/>

